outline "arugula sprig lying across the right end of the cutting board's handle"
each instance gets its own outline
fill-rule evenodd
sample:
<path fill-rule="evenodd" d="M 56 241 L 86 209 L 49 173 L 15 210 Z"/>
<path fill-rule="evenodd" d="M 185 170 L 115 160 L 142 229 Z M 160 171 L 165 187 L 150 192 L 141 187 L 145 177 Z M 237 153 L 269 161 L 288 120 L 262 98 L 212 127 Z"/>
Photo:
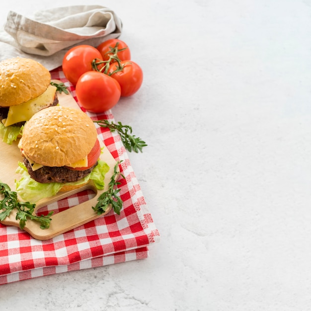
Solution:
<path fill-rule="evenodd" d="M 114 172 L 113 175 L 111 176 L 110 182 L 109 182 L 109 187 L 108 190 L 104 193 L 102 193 L 98 198 L 97 198 L 97 204 L 95 207 L 92 207 L 92 209 L 97 212 L 97 215 L 101 215 L 106 212 L 107 207 L 109 204 L 111 204 L 113 211 L 120 215 L 120 211 L 123 206 L 123 201 L 118 196 L 118 193 L 120 192 L 121 189 L 118 189 L 117 186 L 121 184 L 121 182 L 117 181 L 117 177 L 119 175 L 118 172 L 118 166 L 119 166 L 119 161 L 116 163 L 114 166 Z M 125 178 L 122 174 L 121 176 Z"/>

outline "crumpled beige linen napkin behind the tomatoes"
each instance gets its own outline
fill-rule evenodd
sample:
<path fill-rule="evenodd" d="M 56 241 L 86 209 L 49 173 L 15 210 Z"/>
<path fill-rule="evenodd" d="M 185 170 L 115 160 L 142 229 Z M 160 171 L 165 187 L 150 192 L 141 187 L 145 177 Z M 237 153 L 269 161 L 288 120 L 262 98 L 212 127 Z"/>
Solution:
<path fill-rule="evenodd" d="M 97 46 L 117 38 L 122 22 L 116 13 L 101 5 L 74 5 L 35 12 L 32 18 L 9 11 L 0 31 L 0 61 L 28 57 L 49 70 L 62 64 L 73 46 Z"/>

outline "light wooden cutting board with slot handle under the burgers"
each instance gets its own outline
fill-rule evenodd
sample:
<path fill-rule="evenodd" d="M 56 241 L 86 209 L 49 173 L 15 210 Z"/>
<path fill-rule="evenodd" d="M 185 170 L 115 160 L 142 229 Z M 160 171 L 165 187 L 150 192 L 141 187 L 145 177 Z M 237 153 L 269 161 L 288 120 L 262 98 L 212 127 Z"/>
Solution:
<path fill-rule="evenodd" d="M 60 82 L 58 80 L 53 81 L 58 83 Z M 58 92 L 57 94 L 60 105 L 80 109 L 76 100 L 71 95 L 67 95 L 64 92 Z M 100 139 L 99 141 L 101 142 Z M 20 175 L 15 173 L 15 170 L 18 167 L 18 161 L 22 161 L 22 156 L 17 144 L 18 142 L 13 143 L 12 145 L 7 145 L 0 140 L 0 181 L 8 184 L 12 191 L 16 191 L 14 180 L 20 178 Z M 109 213 L 111 206 L 104 214 L 101 215 L 97 215 L 97 213 L 92 209 L 92 206 L 95 206 L 97 203 L 97 198 L 103 192 L 107 191 L 108 184 L 113 176 L 114 166 L 116 164 L 116 160 L 107 148 L 103 148 L 103 153 L 100 158 L 110 167 L 109 171 L 105 174 L 105 187 L 103 190 L 98 190 L 92 182 L 89 182 L 80 189 L 60 192 L 54 197 L 40 200 L 36 203 L 35 212 L 43 206 L 67 198 L 70 195 L 78 193 L 82 190 L 91 189 L 95 193 L 95 196 L 92 199 L 52 215 L 52 221 L 49 229 L 40 229 L 38 222 L 27 219 L 24 230 L 38 240 L 47 240 Z M 15 217 L 16 212 L 12 211 L 9 217 L 1 221 L 1 223 L 8 226 L 19 227 L 19 221 L 17 221 Z"/>

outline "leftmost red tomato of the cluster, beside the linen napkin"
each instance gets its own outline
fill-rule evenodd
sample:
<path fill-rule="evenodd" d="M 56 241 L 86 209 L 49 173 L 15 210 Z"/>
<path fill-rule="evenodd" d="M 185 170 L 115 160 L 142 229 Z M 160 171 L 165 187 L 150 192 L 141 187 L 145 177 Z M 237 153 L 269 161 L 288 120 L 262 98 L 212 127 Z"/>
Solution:
<path fill-rule="evenodd" d="M 102 60 L 100 52 L 93 46 L 84 44 L 71 48 L 63 59 L 65 77 L 76 85 L 82 74 L 92 70 L 92 61 L 95 58 Z"/>

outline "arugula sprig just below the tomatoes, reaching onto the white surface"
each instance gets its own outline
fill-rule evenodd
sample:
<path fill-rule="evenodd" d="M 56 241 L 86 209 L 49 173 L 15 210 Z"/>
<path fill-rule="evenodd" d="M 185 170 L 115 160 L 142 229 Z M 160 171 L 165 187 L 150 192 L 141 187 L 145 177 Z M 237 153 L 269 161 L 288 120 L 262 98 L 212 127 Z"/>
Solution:
<path fill-rule="evenodd" d="M 143 152 L 143 147 L 148 146 L 142 139 L 132 135 L 132 127 L 121 122 L 114 123 L 108 120 L 93 121 L 103 128 L 109 128 L 111 132 L 117 131 L 121 137 L 124 148 L 129 152 Z"/>

